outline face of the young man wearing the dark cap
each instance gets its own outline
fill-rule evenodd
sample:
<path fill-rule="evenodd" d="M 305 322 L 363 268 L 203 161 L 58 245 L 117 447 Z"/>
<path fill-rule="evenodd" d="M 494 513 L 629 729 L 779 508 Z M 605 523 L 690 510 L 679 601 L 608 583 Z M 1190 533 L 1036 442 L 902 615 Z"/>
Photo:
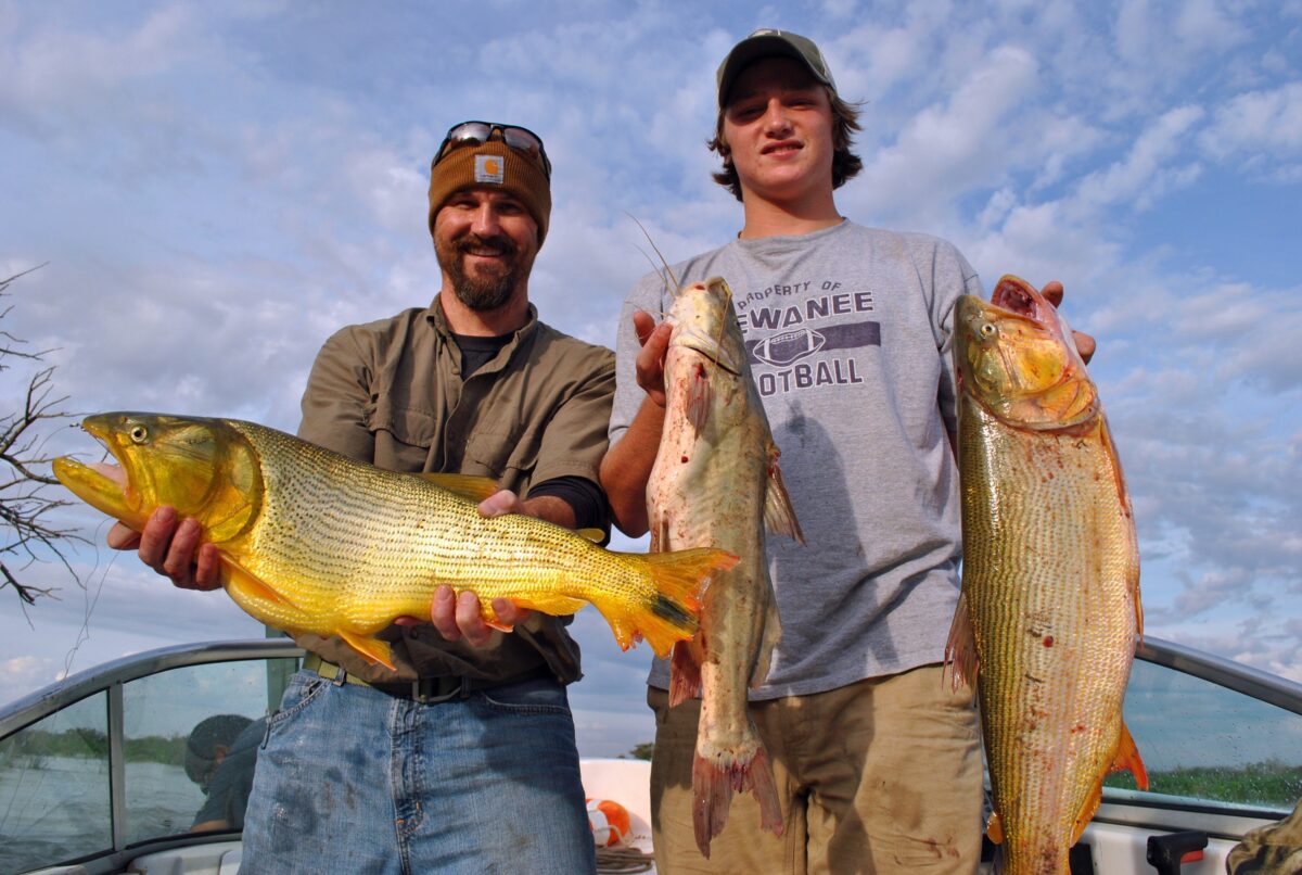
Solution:
<path fill-rule="evenodd" d="M 742 70 L 724 108 L 724 139 L 743 193 L 777 202 L 832 190 L 832 104 L 793 57 Z"/>

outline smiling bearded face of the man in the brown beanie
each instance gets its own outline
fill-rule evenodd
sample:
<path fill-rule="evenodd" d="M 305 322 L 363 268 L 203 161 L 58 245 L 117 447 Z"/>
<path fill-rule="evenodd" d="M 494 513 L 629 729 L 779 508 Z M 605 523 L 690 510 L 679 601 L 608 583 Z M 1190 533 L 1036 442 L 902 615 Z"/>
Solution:
<path fill-rule="evenodd" d="M 529 279 L 538 224 L 510 194 L 466 189 L 435 216 L 434 251 L 462 303 L 496 310 Z"/>

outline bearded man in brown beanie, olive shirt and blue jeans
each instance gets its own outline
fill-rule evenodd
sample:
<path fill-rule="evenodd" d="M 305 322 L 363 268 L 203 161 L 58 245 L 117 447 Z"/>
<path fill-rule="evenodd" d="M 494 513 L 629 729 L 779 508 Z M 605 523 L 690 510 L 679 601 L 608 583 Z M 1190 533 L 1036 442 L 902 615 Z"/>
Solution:
<path fill-rule="evenodd" d="M 615 388 L 611 350 L 539 322 L 529 276 L 551 216 L 551 163 L 516 125 L 454 125 L 430 172 L 441 288 L 427 307 L 326 341 L 298 435 L 397 471 L 493 478 L 486 516 L 608 529 L 598 486 Z M 521 497 L 517 497 L 521 496 Z M 163 508 L 109 534 L 177 586 L 220 585 L 198 523 Z M 430 621 L 381 637 L 397 671 L 337 638 L 310 651 L 272 715 L 243 831 L 250 872 L 594 870 L 565 685 L 569 617 L 493 608 L 439 587 Z"/>

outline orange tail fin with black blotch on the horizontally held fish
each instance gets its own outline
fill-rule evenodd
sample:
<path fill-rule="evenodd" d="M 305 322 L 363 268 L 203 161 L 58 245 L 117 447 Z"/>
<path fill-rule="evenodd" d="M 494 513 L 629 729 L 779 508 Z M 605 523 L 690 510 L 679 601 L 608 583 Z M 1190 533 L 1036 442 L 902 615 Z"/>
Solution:
<path fill-rule="evenodd" d="M 712 547 L 644 553 L 638 560 L 643 574 L 650 577 L 651 595 L 631 613 L 608 609 L 602 613 L 621 648 L 628 650 L 634 642 L 644 639 L 660 658 L 669 655 L 674 642 L 697 634 L 700 596 L 710 576 L 740 561 L 733 553 Z"/>

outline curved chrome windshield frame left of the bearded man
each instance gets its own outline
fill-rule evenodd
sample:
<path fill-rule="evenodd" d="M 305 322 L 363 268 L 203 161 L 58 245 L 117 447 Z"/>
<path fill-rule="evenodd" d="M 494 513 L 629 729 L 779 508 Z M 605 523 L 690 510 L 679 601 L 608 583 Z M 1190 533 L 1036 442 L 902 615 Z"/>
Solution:
<path fill-rule="evenodd" d="M 150 674 L 182 665 L 202 665 L 204 663 L 228 663 L 245 659 L 275 659 L 302 656 L 303 648 L 289 638 L 254 638 L 250 641 L 212 641 L 197 645 L 176 645 L 160 647 L 143 654 L 124 656 L 103 665 L 78 672 L 56 684 L 25 695 L 16 702 L 0 707 L 0 738 L 48 717 L 55 711 L 73 702 L 85 699 L 115 685 L 121 686 Z M 121 730 L 121 702 L 118 702 L 118 723 Z M 112 719 L 112 712 L 109 712 Z"/>

